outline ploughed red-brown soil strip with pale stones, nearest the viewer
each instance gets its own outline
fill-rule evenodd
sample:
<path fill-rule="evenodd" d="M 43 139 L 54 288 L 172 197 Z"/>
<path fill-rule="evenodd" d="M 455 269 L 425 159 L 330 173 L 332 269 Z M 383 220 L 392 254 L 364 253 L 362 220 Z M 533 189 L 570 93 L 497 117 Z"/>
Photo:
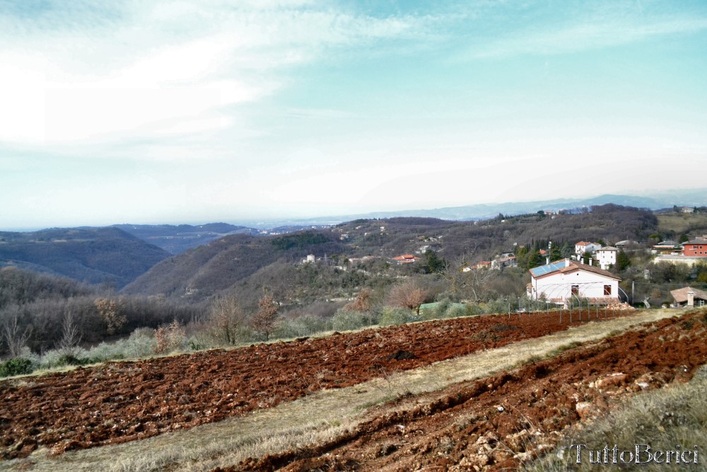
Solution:
<path fill-rule="evenodd" d="M 327 444 L 216 471 L 513 469 L 615 398 L 691 379 L 707 362 L 706 333 L 706 311 L 657 321 L 517 372 L 411 399 L 409 408 L 383 410 Z"/>

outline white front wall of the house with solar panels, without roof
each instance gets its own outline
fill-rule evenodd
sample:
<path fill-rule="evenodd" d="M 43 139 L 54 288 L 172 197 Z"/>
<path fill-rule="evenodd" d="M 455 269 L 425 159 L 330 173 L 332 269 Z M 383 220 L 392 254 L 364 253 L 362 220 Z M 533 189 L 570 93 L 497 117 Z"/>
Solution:
<path fill-rule="evenodd" d="M 539 278 L 532 277 L 531 286 L 530 295 L 534 299 L 540 299 L 542 294 L 545 294 L 547 299 L 566 301 L 573 297 L 573 287 L 576 287 L 577 296 L 580 298 L 619 297 L 619 280 L 581 269 Z"/>

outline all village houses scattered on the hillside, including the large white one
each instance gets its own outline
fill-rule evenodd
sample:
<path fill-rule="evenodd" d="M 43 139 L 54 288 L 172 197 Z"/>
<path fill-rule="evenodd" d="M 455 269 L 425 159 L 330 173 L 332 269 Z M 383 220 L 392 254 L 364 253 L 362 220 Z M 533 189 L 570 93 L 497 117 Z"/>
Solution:
<path fill-rule="evenodd" d="M 689 211 L 688 211 L 689 210 Z M 680 209 L 682 213 L 693 213 L 691 207 Z M 547 216 L 556 217 L 556 214 Z M 506 223 L 506 219 L 501 219 L 501 224 Z M 365 229 L 363 225 L 354 228 L 355 231 Z M 332 229 L 336 232 L 343 229 Z M 370 236 L 370 232 L 363 231 L 363 238 Z M 380 234 L 385 235 L 385 226 L 380 226 Z M 341 241 L 350 241 L 350 233 L 341 233 Z M 457 265 L 454 270 L 464 273 L 471 271 L 496 270 L 518 268 L 517 253 L 530 257 L 525 258 L 522 269 L 530 273 L 530 283 L 527 284 L 527 297 L 534 300 L 550 301 L 552 304 L 567 308 L 572 303 L 581 300 L 588 300 L 590 304 L 616 305 L 633 300 L 633 293 L 629 294 L 626 289 L 619 287 L 621 277 L 619 272 L 631 265 L 631 258 L 643 258 L 651 265 L 667 263 L 671 265 L 684 265 L 690 267 L 695 265 L 707 265 L 707 235 L 695 235 L 689 238 L 683 235 L 681 243 L 674 241 L 660 241 L 655 243 L 654 236 L 647 238 L 643 243 L 632 239 L 616 241 L 614 245 L 608 245 L 603 240 L 600 241 L 577 241 L 576 243 L 563 243 L 561 248 L 553 248 L 551 241 L 548 241 L 544 248 L 520 248 L 518 243 L 513 243 L 513 251 L 498 253 L 490 260 L 477 260 L 475 262 L 464 261 L 462 265 Z M 385 260 L 390 265 L 425 265 L 426 259 L 433 257 L 442 261 L 445 269 L 449 268 L 449 263 L 442 260 L 438 253 L 443 250 L 444 236 L 420 236 L 417 241 L 423 242 L 422 246 L 416 248 L 413 253 L 403 253 L 391 255 Z M 358 263 L 379 259 L 381 256 L 366 255 L 363 258 L 345 258 L 346 265 L 337 265 L 339 270 L 349 270 L 356 267 Z M 307 256 L 303 263 L 313 263 L 319 260 L 326 261 L 325 258 L 317 258 L 314 254 Z M 684 268 L 683 267 L 683 268 Z M 426 266 L 426 271 L 429 267 Z M 574 277 L 569 277 L 572 274 Z M 650 282 L 650 269 L 645 269 L 643 279 Z M 704 281 L 703 281 L 704 282 Z M 679 289 L 682 290 L 682 289 Z M 689 301 L 682 296 L 682 292 L 670 291 L 672 301 L 662 300 L 662 304 L 670 306 L 702 306 L 705 302 L 701 298 L 701 291 L 686 287 L 691 293 L 696 293 L 696 297 L 691 297 Z M 695 292 L 697 290 L 697 292 Z M 650 306 L 649 297 L 645 297 L 643 304 Z"/>

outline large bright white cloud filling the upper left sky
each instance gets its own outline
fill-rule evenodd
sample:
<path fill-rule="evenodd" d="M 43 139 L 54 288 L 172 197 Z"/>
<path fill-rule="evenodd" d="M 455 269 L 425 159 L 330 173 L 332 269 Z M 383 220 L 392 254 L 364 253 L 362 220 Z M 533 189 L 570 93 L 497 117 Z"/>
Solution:
<path fill-rule="evenodd" d="M 1 19 L 13 28 L 0 33 L 0 142 L 76 151 L 218 132 L 240 122 L 233 105 L 287 83 L 282 67 L 328 47 L 421 28 L 415 18 L 356 16 L 302 1 L 125 5 L 98 26 L 83 23 L 79 8 L 78 20 L 68 18 L 61 6 L 40 18 Z M 96 4 L 83 6 L 94 14 Z"/>

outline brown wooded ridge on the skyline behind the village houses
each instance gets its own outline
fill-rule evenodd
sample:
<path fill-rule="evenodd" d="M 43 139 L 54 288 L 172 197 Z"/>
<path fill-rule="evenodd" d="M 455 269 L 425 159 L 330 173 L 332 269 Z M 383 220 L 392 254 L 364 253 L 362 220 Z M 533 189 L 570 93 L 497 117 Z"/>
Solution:
<path fill-rule="evenodd" d="M 381 229 L 382 227 L 382 229 Z M 357 220 L 337 226 L 356 253 L 391 257 L 429 246 L 447 260 L 488 260 L 516 246 L 540 243 L 547 247 L 577 241 L 616 243 L 624 239 L 648 241 L 658 231 L 658 219 L 647 209 L 601 205 L 591 211 L 546 215 L 543 212 L 503 216 L 484 221 L 445 221 L 431 218 Z M 423 251 L 421 251 L 423 252 Z"/>

